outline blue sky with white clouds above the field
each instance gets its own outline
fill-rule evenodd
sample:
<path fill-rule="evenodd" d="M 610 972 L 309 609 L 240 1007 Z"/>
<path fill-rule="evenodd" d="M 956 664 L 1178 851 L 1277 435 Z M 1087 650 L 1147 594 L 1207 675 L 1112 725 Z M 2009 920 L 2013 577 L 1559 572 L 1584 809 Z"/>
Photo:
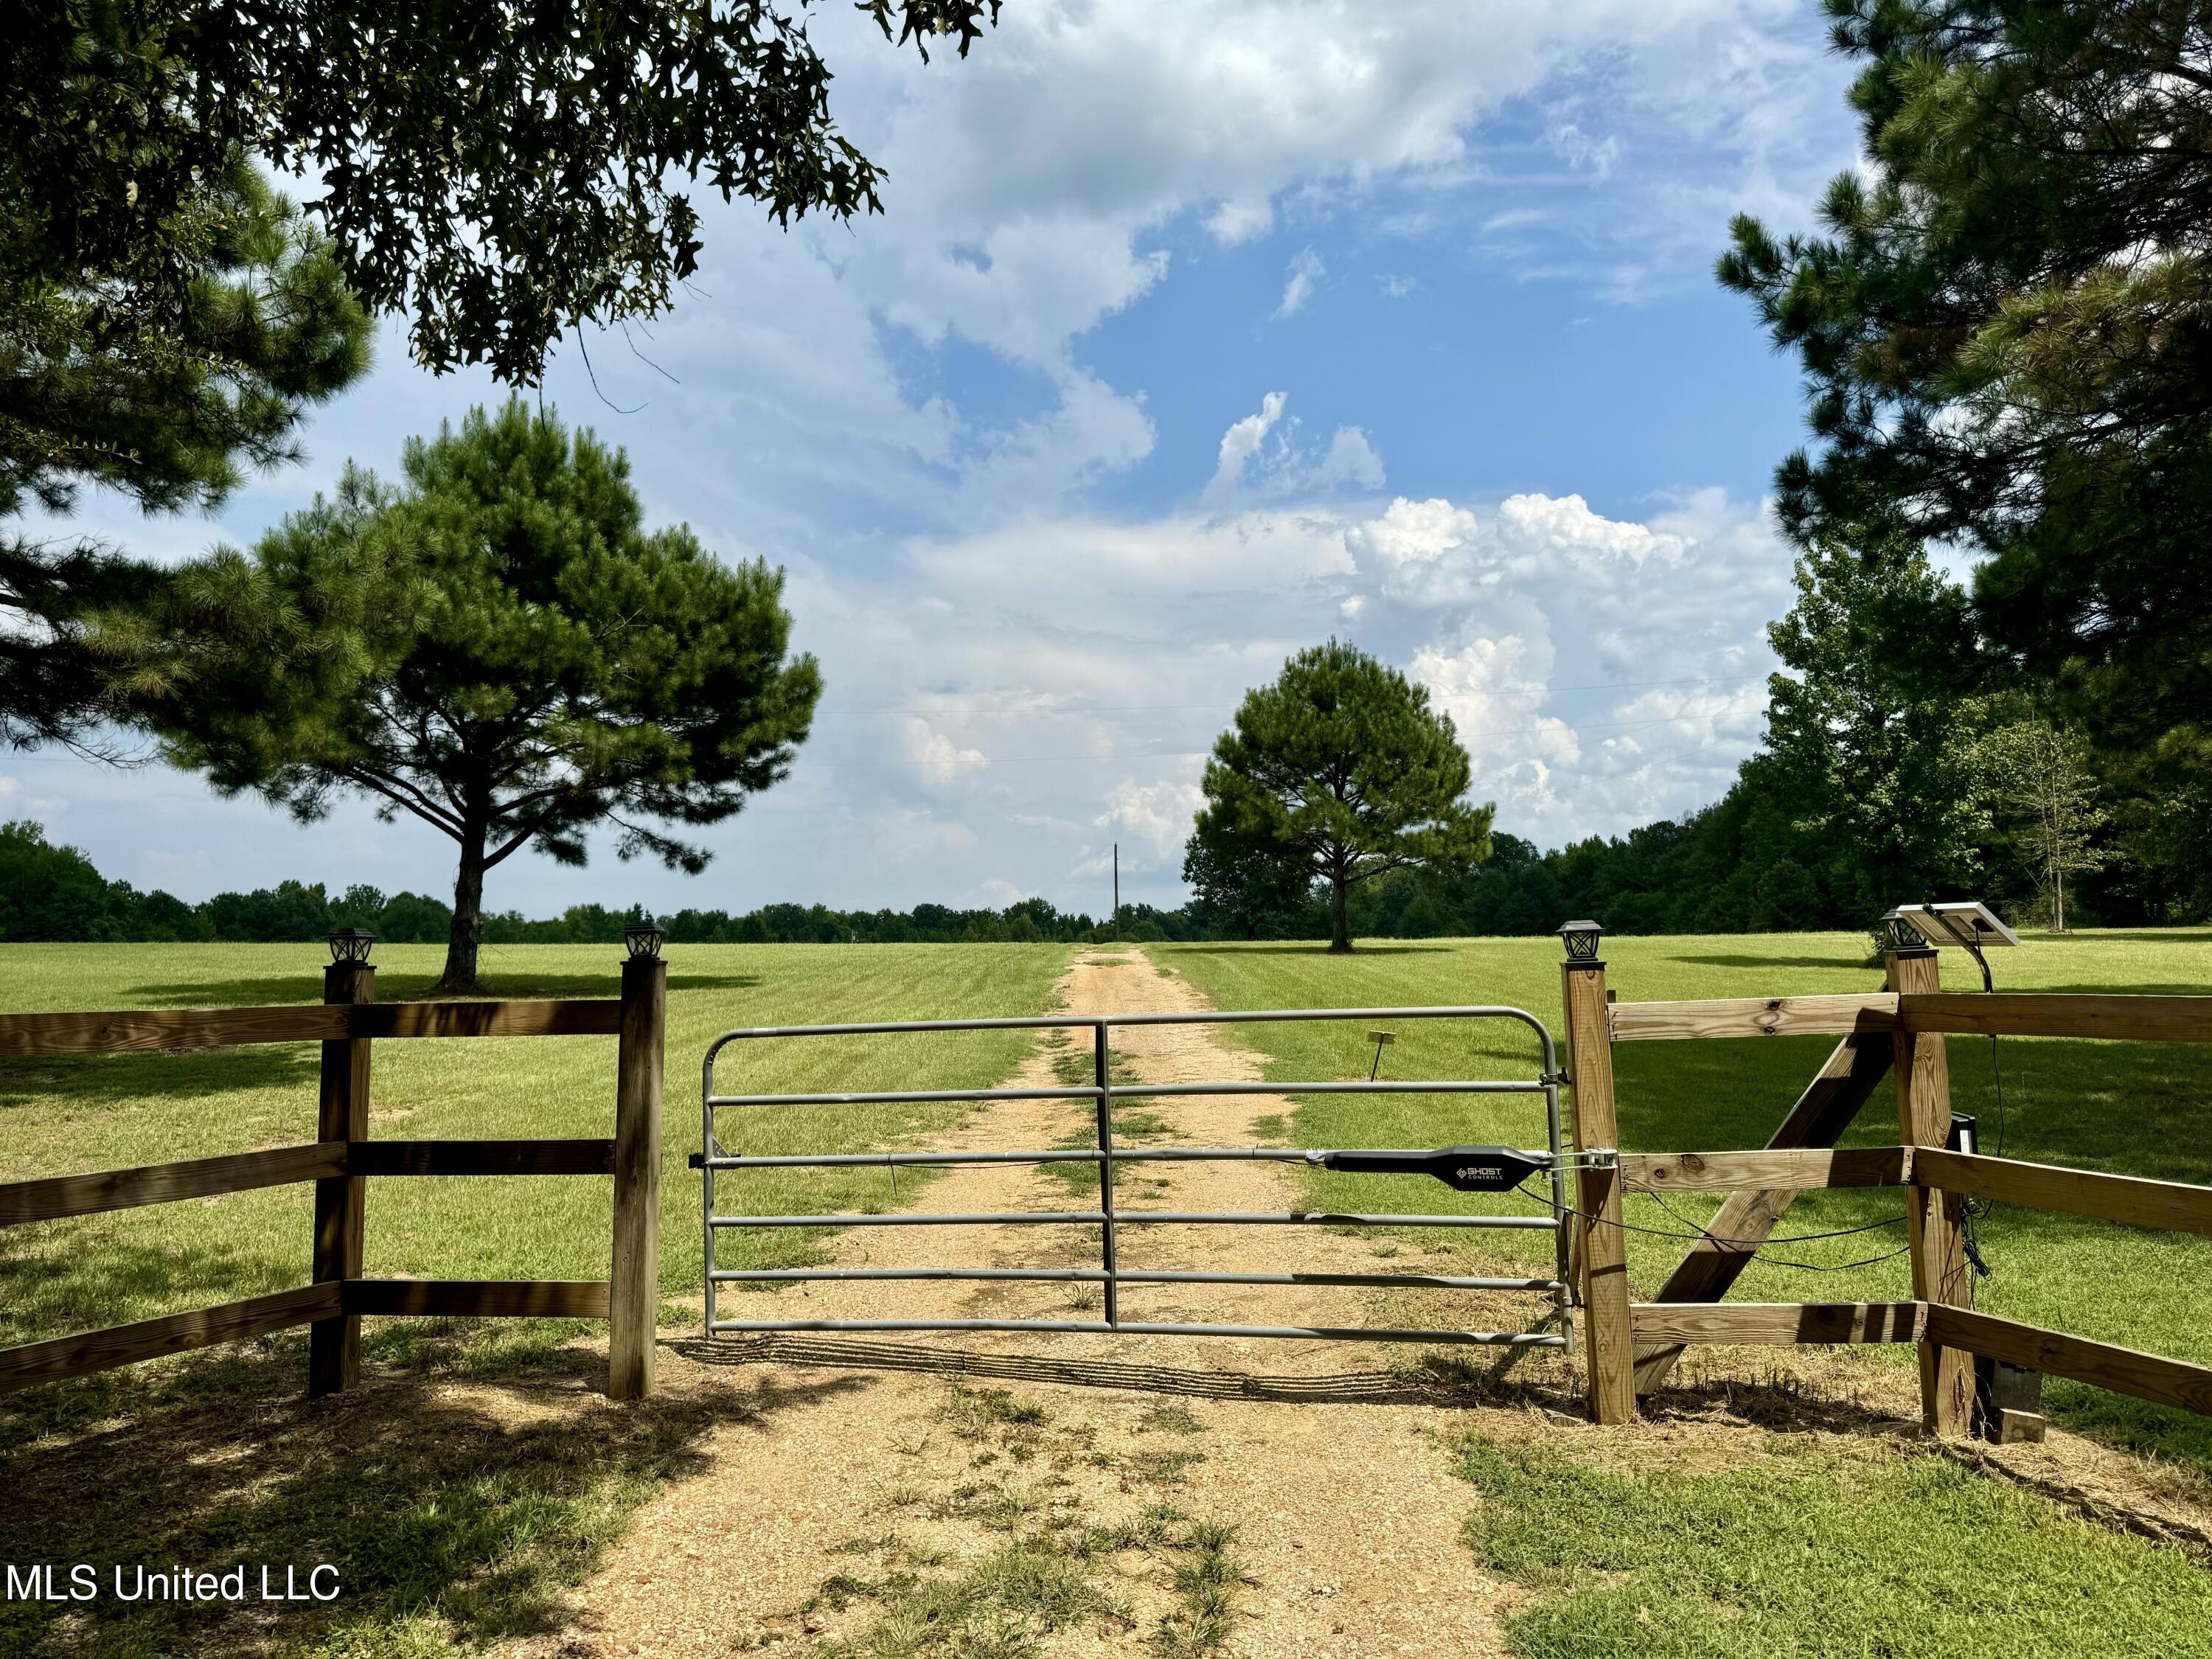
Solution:
<path fill-rule="evenodd" d="M 1553 845 L 1725 790 L 1790 602 L 1765 489 L 1792 367 L 1710 276 L 1854 161 L 1809 0 L 1009 0 L 927 69 L 843 9 L 832 106 L 887 212 L 712 204 L 675 314 L 546 398 L 648 513 L 790 571 L 827 695 L 703 876 L 520 856 L 489 902 L 1175 902 L 1206 745 L 1332 633 L 1427 684 L 1504 830 Z M 347 458 L 498 396 L 385 332 L 310 460 L 215 520 L 88 498 L 159 555 L 248 542 Z M 0 812 L 204 898 L 442 894 L 451 845 L 157 765 L 0 757 Z"/>

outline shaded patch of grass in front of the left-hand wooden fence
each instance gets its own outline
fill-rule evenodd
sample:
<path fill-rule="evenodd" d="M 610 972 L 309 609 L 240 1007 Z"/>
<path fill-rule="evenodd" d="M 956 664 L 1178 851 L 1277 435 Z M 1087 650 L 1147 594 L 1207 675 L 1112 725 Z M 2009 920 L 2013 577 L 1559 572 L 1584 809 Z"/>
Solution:
<path fill-rule="evenodd" d="M 460 1343 L 469 1334 L 458 1334 Z M 599 1354 L 493 1336 L 495 1363 L 414 1338 L 405 1369 L 307 1405 L 303 1343 L 239 1349 L 157 1383 L 124 1422 L 91 1422 L 7 1455 L 0 1559 L 246 1566 L 299 1582 L 338 1571 L 327 1604 L 0 1604 L 0 1650 L 71 1655 L 476 1650 L 557 1632 L 564 1590 L 591 1575 L 635 1506 L 706 1469 L 726 1422 L 867 1387 L 699 1389 L 613 1407 Z M 456 1363 L 458 1360 L 458 1363 Z M 495 1383 L 471 1385 L 471 1369 Z M 458 1378 L 456 1378 L 458 1371 Z M 142 1374 L 144 1376 L 144 1374 Z M 442 1387 L 425 1387 L 425 1383 Z"/>

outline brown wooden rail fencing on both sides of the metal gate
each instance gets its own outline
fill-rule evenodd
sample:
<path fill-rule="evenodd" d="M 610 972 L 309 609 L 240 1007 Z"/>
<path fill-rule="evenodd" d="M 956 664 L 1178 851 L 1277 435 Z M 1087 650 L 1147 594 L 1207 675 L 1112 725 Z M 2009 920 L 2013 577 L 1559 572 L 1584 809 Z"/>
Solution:
<path fill-rule="evenodd" d="M 1692 1343 L 1918 1343 L 1922 1416 L 1929 1429 L 1949 1436 L 1971 1427 L 1975 1356 L 2212 1413 L 2212 1367 L 1973 1312 L 1960 1225 L 1962 1199 L 1978 1197 L 2212 1234 L 2212 1188 L 1944 1148 L 1951 1130 L 1947 1033 L 2212 1042 L 2212 998 L 1947 995 L 1933 951 L 1898 951 L 1887 967 L 1889 989 L 1869 995 L 1613 1002 L 1604 962 L 1566 964 L 1573 1130 L 1584 1150 L 1619 1148 L 1613 1084 L 1619 1042 L 1840 1037 L 1765 1148 L 1621 1152 L 1613 1166 L 1579 1168 L 1575 1279 L 1599 1422 L 1632 1418 L 1637 1396 L 1659 1387 Z M 378 1004 L 374 987 L 376 969 L 367 962 L 336 962 L 325 969 L 323 1002 L 307 1006 L 0 1015 L 0 1057 L 323 1044 L 319 1137 L 310 1144 L 0 1183 L 0 1225 L 20 1225 L 312 1181 L 312 1283 L 0 1349 L 0 1391 L 307 1325 L 307 1389 L 336 1394 L 358 1380 L 363 1314 L 606 1318 L 608 1396 L 628 1400 L 653 1391 L 666 964 L 657 956 L 624 962 L 619 1000 Z M 369 1139 L 378 1040 L 584 1035 L 619 1042 L 613 1137 Z M 1838 1148 L 1858 1110 L 1891 1075 L 1898 1146 Z M 414 1175 L 613 1175 L 608 1279 L 365 1279 L 363 1186 L 372 1177 Z M 1843 1186 L 1907 1192 L 1913 1301 L 1721 1301 L 1801 1190 Z M 1708 1237 L 1652 1301 L 1632 1301 L 1624 1194 L 1717 1190 L 1728 1199 L 1708 1223 Z"/>

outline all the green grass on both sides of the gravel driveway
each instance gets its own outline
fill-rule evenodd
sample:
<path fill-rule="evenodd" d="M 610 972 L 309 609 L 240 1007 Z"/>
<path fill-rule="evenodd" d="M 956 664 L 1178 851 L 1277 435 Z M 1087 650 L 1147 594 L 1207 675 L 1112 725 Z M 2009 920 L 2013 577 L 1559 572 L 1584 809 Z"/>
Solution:
<path fill-rule="evenodd" d="M 1223 1006 L 1515 1002 L 1557 1024 L 1553 940 L 1371 945 L 1352 958 L 1298 945 L 1148 949 Z M 0 1004 L 296 1002 L 316 993 L 321 956 L 314 947 L 0 947 Z M 604 947 L 502 949 L 489 975 L 504 995 L 613 995 L 615 956 Z M 1624 1000 L 1851 991 L 1876 982 L 1856 936 L 1608 940 L 1606 956 Z M 385 947 L 378 958 L 387 1000 L 420 993 L 438 964 L 431 949 Z M 699 1279 L 697 1177 L 684 1168 L 697 1144 L 695 1064 L 717 1031 L 1042 1011 L 1068 951 L 690 947 L 670 958 L 661 1261 L 664 1294 L 681 1296 Z M 1944 967 L 1953 989 L 1969 989 L 1964 962 L 1947 958 Z M 1997 971 L 2006 989 L 2212 991 L 2212 933 L 2035 940 L 1997 958 Z M 1243 1026 L 1237 1037 L 1265 1053 L 1272 1077 L 1325 1079 L 1367 1075 L 1371 1048 L 1363 1033 L 1365 1022 Z M 1396 1033 L 1385 1075 L 1535 1071 L 1524 1029 L 1405 1022 Z M 1029 1042 L 1024 1033 L 896 1048 L 776 1042 L 732 1057 L 721 1084 L 975 1086 L 1004 1077 Z M 599 1037 L 378 1044 L 376 1133 L 604 1135 L 613 1048 Z M 1825 1037 L 1621 1046 L 1621 1139 L 1644 1150 L 1759 1146 L 1827 1048 Z M 2212 1055 L 2203 1048 L 2006 1040 L 2000 1060 L 2006 1152 L 2212 1181 Z M 312 1048 L 11 1062 L 0 1066 L 0 1177 L 307 1139 L 314 1066 Z M 1951 1040 L 1951 1068 L 1955 1104 L 1980 1115 L 1984 1148 L 1997 1150 L 1989 1044 Z M 1896 1139 L 1891 1102 L 1887 1088 L 1876 1095 L 1856 1141 Z M 953 1110 L 805 1108 L 785 1119 L 726 1113 L 721 1137 L 745 1150 L 880 1146 L 949 1121 Z M 1166 1110 L 1146 1102 L 1146 1117 Z M 1506 1097 L 1314 1097 L 1296 1104 L 1281 1137 L 1303 1146 L 1537 1144 L 1542 1115 L 1533 1099 Z M 1071 1175 L 1088 1179 L 1075 1166 Z M 1500 1206 L 1453 1199 L 1429 1181 L 1312 1179 L 1314 1201 L 1327 1208 Z M 369 1272 L 602 1276 L 606 1188 L 584 1177 L 372 1183 Z M 902 1177 L 900 1201 L 907 1197 Z M 759 1175 L 728 1183 L 721 1203 L 754 1212 L 880 1208 L 891 1194 L 878 1172 Z M 294 1188 L 0 1232 L 0 1343 L 301 1283 L 307 1208 L 307 1190 Z M 1679 1232 L 1712 1208 L 1677 1199 L 1670 1214 L 1635 1201 L 1630 1219 Z M 1792 1210 L 1781 1232 L 1887 1223 L 1896 1212 L 1896 1192 L 1818 1192 Z M 1982 1307 L 2212 1360 L 2212 1321 L 2203 1312 L 2212 1303 L 2212 1241 L 2002 1208 L 1980 1228 L 1995 1267 L 1980 1287 Z M 1444 1243 L 1484 1256 L 1520 1248 L 1540 1261 L 1515 1234 Z M 1849 1265 L 1887 1256 L 1898 1243 L 1893 1225 L 1794 1243 L 1776 1254 L 1836 1272 L 1763 1265 L 1736 1296 L 1905 1296 L 1902 1259 Z M 752 1254 L 739 1256 L 741 1248 Z M 1657 1285 L 1681 1248 L 1637 1234 L 1637 1283 Z M 812 1250 L 810 1239 L 759 1234 L 748 1245 L 730 1241 L 726 1261 L 799 1261 Z M 493 1409 L 498 1391 L 473 1391 L 476 1380 L 526 1378 L 540 1385 L 538 1398 L 588 1398 L 599 1376 L 595 1360 L 560 1347 L 573 1329 L 582 1327 L 372 1321 L 374 1363 L 409 1371 L 420 1387 L 363 1389 L 314 1411 L 299 1405 L 299 1334 L 4 1400 L 4 1484 L 33 1500 L 0 1504 L 0 1559 L 345 1562 L 347 1599 L 330 1619 L 246 1644 L 301 1659 L 429 1659 L 557 1630 L 562 1586 L 604 1559 L 606 1542 L 637 1504 L 703 1467 L 701 1447 L 717 1427 L 748 1420 L 754 1409 L 732 1389 L 641 1411 L 513 1420 Z M 1902 1365 L 1909 1349 L 1860 1349 L 1860 1358 Z M 2046 1387 L 2046 1405 L 2068 1427 L 2212 1469 L 2212 1425 L 2203 1420 L 2066 1383 Z M 1469 1482 L 1469 1548 L 1486 1571 L 1524 1586 L 1506 1639 L 1526 1659 L 2212 1652 L 2212 1575 L 2201 1562 L 2064 1515 L 1865 1425 L 1845 1433 L 1661 1425 L 1657 1438 L 1615 1444 L 1601 1431 L 1504 1416 L 1511 1422 L 1498 1438 L 1471 1436 L 1438 1455 L 1455 1455 Z M 148 1455 L 148 1436 L 161 1455 Z M 891 1597 L 883 1624 L 889 1632 L 967 1628 L 973 1619 L 938 1619 L 938 1601 L 964 1595 L 982 1610 L 978 1619 L 995 1619 L 1022 1597 L 1035 1599 L 1040 1586 L 1073 1593 L 1075 1577 L 1046 1566 L 1026 1555 L 991 1557 L 942 1584 L 863 1588 Z M 1223 1613 L 1217 1624 L 1234 1646 L 1232 1617 Z M 108 1610 L 84 1621 L 66 1608 L 0 1606 L 7 1652 L 201 1650 L 197 1628 L 173 1608 Z M 918 1648 L 953 1650 L 945 1641 Z"/>

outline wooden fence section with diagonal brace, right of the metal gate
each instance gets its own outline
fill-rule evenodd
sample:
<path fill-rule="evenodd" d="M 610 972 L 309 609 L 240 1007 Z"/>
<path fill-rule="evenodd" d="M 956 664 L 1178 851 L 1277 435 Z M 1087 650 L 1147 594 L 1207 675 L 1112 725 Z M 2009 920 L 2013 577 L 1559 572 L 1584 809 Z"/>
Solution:
<path fill-rule="evenodd" d="M 1690 1343 L 1918 1343 L 1922 1420 L 1936 1433 L 1973 1427 L 1973 1360 L 2097 1383 L 2159 1405 L 2212 1413 L 2212 1367 L 1973 1312 L 1966 1301 L 1962 1199 L 2062 1210 L 2137 1228 L 2212 1234 L 2212 1188 L 2022 1164 L 1947 1150 L 1951 1073 L 1944 1035 L 2212 1042 L 2212 998 L 1951 995 L 1936 951 L 1887 958 L 1871 995 L 1613 1002 L 1606 964 L 1564 969 L 1568 1075 L 1577 1148 L 1617 1148 L 1613 1044 L 1688 1037 L 1838 1035 L 1836 1051 L 1781 1128 L 1750 1152 L 1624 1152 L 1579 1175 L 1575 1274 L 1584 1305 L 1590 1402 L 1626 1422 Z M 1898 1146 L 1836 1141 L 1896 1077 Z M 1909 1303 L 1721 1303 L 1801 1190 L 1898 1186 L 1913 1263 Z M 1624 1192 L 1728 1192 L 1655 1301 L 1630 1301 Z"/>

